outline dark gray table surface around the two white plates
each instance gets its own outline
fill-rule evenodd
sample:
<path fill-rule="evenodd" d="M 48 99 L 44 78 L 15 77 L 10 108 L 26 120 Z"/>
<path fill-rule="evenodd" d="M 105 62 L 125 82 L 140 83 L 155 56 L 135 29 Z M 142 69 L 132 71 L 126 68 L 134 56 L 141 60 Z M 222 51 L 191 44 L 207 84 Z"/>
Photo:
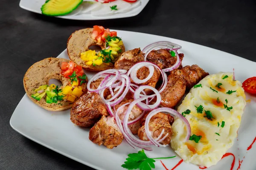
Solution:
<path fill-rule="evenodd" d="M 256 61 L 255 0 L 150 0 L 135 17 L 99 21 L 46 17 L 20 8 L 19 0 L 1 0 L 0 170 L 92 170 L 20 135 L 9 120 L 25 94 L 26 70 L 57 57 L 73 31 L 93 25 L 172 37 Z"/>

